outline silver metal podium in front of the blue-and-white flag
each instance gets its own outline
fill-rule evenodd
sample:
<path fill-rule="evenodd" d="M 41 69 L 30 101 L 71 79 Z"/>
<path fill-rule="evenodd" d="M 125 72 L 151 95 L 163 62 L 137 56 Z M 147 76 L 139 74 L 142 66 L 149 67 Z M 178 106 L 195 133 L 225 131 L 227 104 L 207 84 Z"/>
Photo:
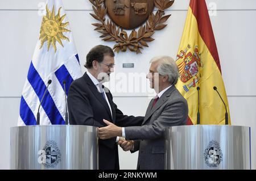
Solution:
<path fill-rule="evenodd" d="M 98 169 L 96 127 L 32 125 L 11 128 L 10 169 Z"/>

